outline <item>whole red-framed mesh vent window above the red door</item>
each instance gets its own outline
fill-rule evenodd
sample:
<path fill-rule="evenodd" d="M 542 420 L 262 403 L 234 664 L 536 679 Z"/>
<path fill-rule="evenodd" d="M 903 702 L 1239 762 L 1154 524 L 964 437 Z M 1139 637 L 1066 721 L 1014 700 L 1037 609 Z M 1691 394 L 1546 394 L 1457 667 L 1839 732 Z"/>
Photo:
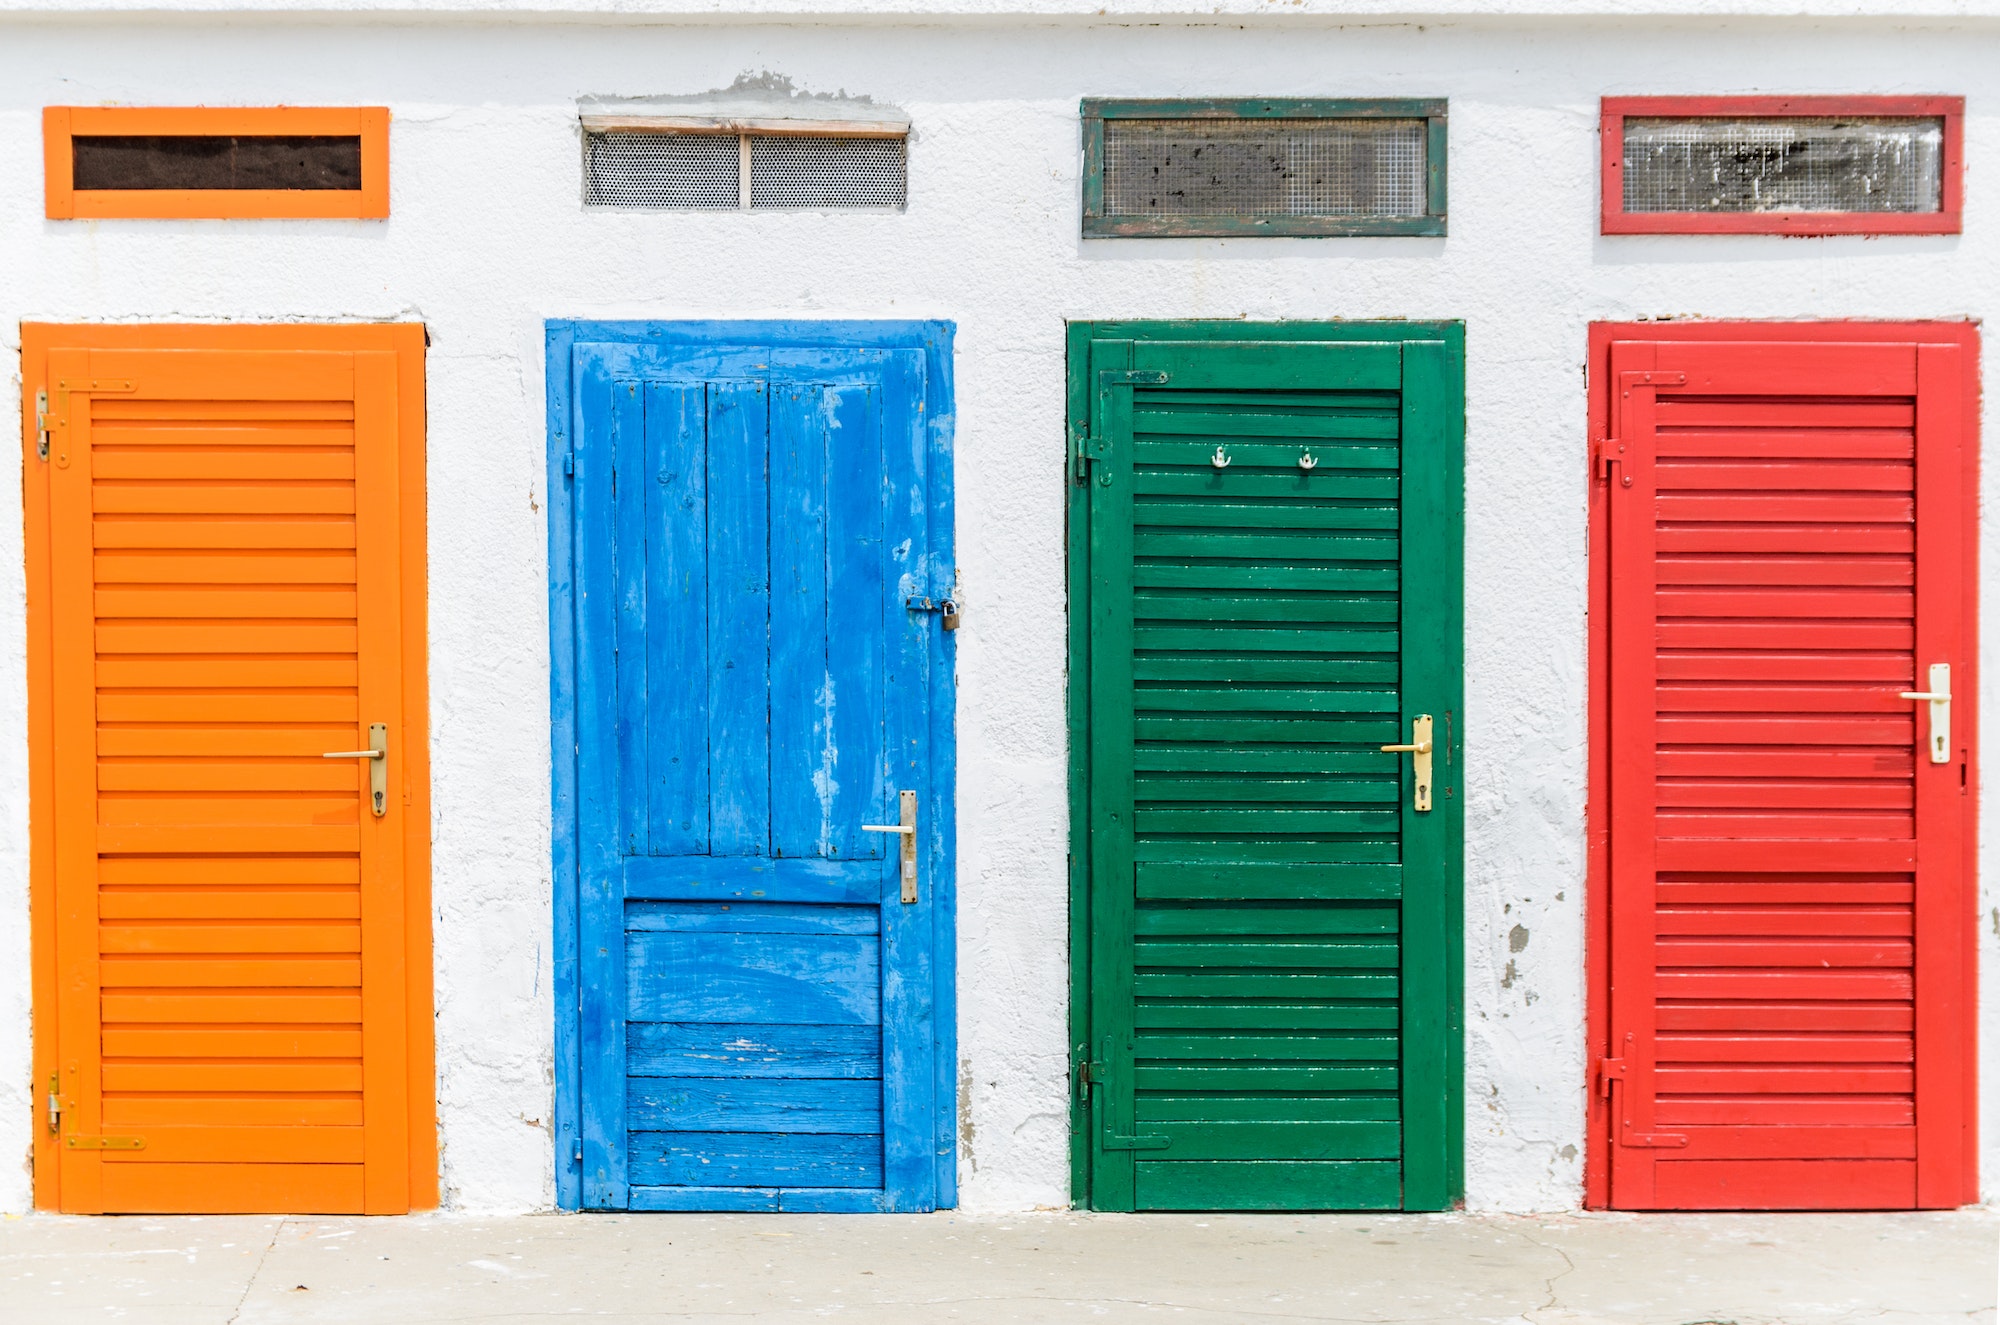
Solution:
<path fill-rule="evenodd" d="M 1700 110 L 1620 114 L 1606 102 L 1608 230 L 1956 228 L 1948 114 Z"/>

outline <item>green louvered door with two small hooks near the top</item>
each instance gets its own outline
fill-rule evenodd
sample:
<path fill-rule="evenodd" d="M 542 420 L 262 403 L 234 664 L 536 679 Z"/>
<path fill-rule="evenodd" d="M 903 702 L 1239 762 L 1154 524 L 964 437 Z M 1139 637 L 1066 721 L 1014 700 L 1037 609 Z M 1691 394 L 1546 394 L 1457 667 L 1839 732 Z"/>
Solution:
<path fill-rule="evenodd" d="M 1460 1189 L 1452 326 L 1072 328 L 1078 1195 Z M 1380 747 L 1434 733 L 1432 795 Z"/>

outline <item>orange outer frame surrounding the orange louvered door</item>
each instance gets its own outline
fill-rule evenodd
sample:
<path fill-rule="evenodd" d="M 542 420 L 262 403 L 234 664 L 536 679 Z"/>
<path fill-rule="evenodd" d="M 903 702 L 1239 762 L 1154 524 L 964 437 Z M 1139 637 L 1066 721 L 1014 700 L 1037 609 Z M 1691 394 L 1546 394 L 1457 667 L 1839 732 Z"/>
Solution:
<path fill-rule="evenodd" d="M 424 358 L 420 322 L 360 324 L 52 324 L 22 322 L 22 524 L 28 588 L 28 915 L 34 1081 L 62 1067 L 56 1039 L 56 829 L 54 829 L 54 594 L 48 462 L 40 458 L 36 390 L 52 350 L 394 350 L 402 594 L 404 779 L 404 1033 L 408 1055 L 408 1209 L 438 1207 L 438 1083 L 430 925 L 430 606 L 426 526 Z M 42 1099 L 40 1095 L 36 1097 Z M 40 1115 L 38 1115 L 40 1119 Z M 50 1131 L 34 1129 L 34 1205 L 60 1209 L 60 1165 Z"/>

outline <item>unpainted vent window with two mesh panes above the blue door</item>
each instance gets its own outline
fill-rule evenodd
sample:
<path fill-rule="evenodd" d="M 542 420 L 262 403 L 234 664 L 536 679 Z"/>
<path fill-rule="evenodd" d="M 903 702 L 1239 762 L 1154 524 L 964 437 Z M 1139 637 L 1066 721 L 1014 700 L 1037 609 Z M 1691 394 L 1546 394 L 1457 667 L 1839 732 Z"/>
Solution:
<path fill-rule="evenodd" d="M 904 138 L 586 132 L 584 202 L 668 210 L 898 210 Z"/>

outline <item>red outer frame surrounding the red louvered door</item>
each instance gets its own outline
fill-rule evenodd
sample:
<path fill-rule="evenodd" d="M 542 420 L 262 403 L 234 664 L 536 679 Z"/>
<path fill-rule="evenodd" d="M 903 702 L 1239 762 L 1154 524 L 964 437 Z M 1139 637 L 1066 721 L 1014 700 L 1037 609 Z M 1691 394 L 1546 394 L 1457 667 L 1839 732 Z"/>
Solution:
<path fill-rule="evenodd" d="M 1610 1209 L 1610 1107 L 1596 1089 L 1596 1065 L 1610 1057 L 1610 504 L 1608 484 L 1596 478 L 1598 448 L 1610 436 L 1612 390 L 1610 352 L 1616 340 L 1702 342 L 1702 340 L 1762 340 L 1770 344 L 1838 344 L 1838 342 L 1912 342 L 1956 344 L 1964 352 L 1962 384 L 1962 512 L 1964 520 L 1964 606 L 1962 630 L 1968 640 L 1966 679 L 1954 677 L 1954 693 L 1978 697 L 1980 632 L 1978 632 L 1978 478 L 1980 478 L 1980 372 L 1978 328 L 1970 322 L 1592 322 L 1590 324 L 1590 428 L 1586 476 L 1590 484 L 1590 654 L 1588 654 L 1588 805 L 1586 805 L 1586 1015 L 1588 1089 L 1584 1143 L 1584 1207 Z M 1958 969 L 1940 973 L 1940 983 L 1956 983 L 1958 1005 L 1966 1009 L 1960 1031 L 1960 1121 L 1964 1165 L 1956 1191 L 1940 1191 L 1920 1177 L 1920 1205 L 1970 1205 L 1978 1201 L 1978 927 L 1974 917 L 1978 881 L 1978 703 L 1954 713 L 1954 727 L 1964 725 L 1970 749 L 1966 777 L 1972 805 L 1966 809 L 1964 867 L 1958 875 L 1960 897 L 1950 913 L 1958 917 Z M 1952 981 L 1956 975 L 1956 981 Z M 1936 989 L 1936 985 L 1928 985 Z"/>

